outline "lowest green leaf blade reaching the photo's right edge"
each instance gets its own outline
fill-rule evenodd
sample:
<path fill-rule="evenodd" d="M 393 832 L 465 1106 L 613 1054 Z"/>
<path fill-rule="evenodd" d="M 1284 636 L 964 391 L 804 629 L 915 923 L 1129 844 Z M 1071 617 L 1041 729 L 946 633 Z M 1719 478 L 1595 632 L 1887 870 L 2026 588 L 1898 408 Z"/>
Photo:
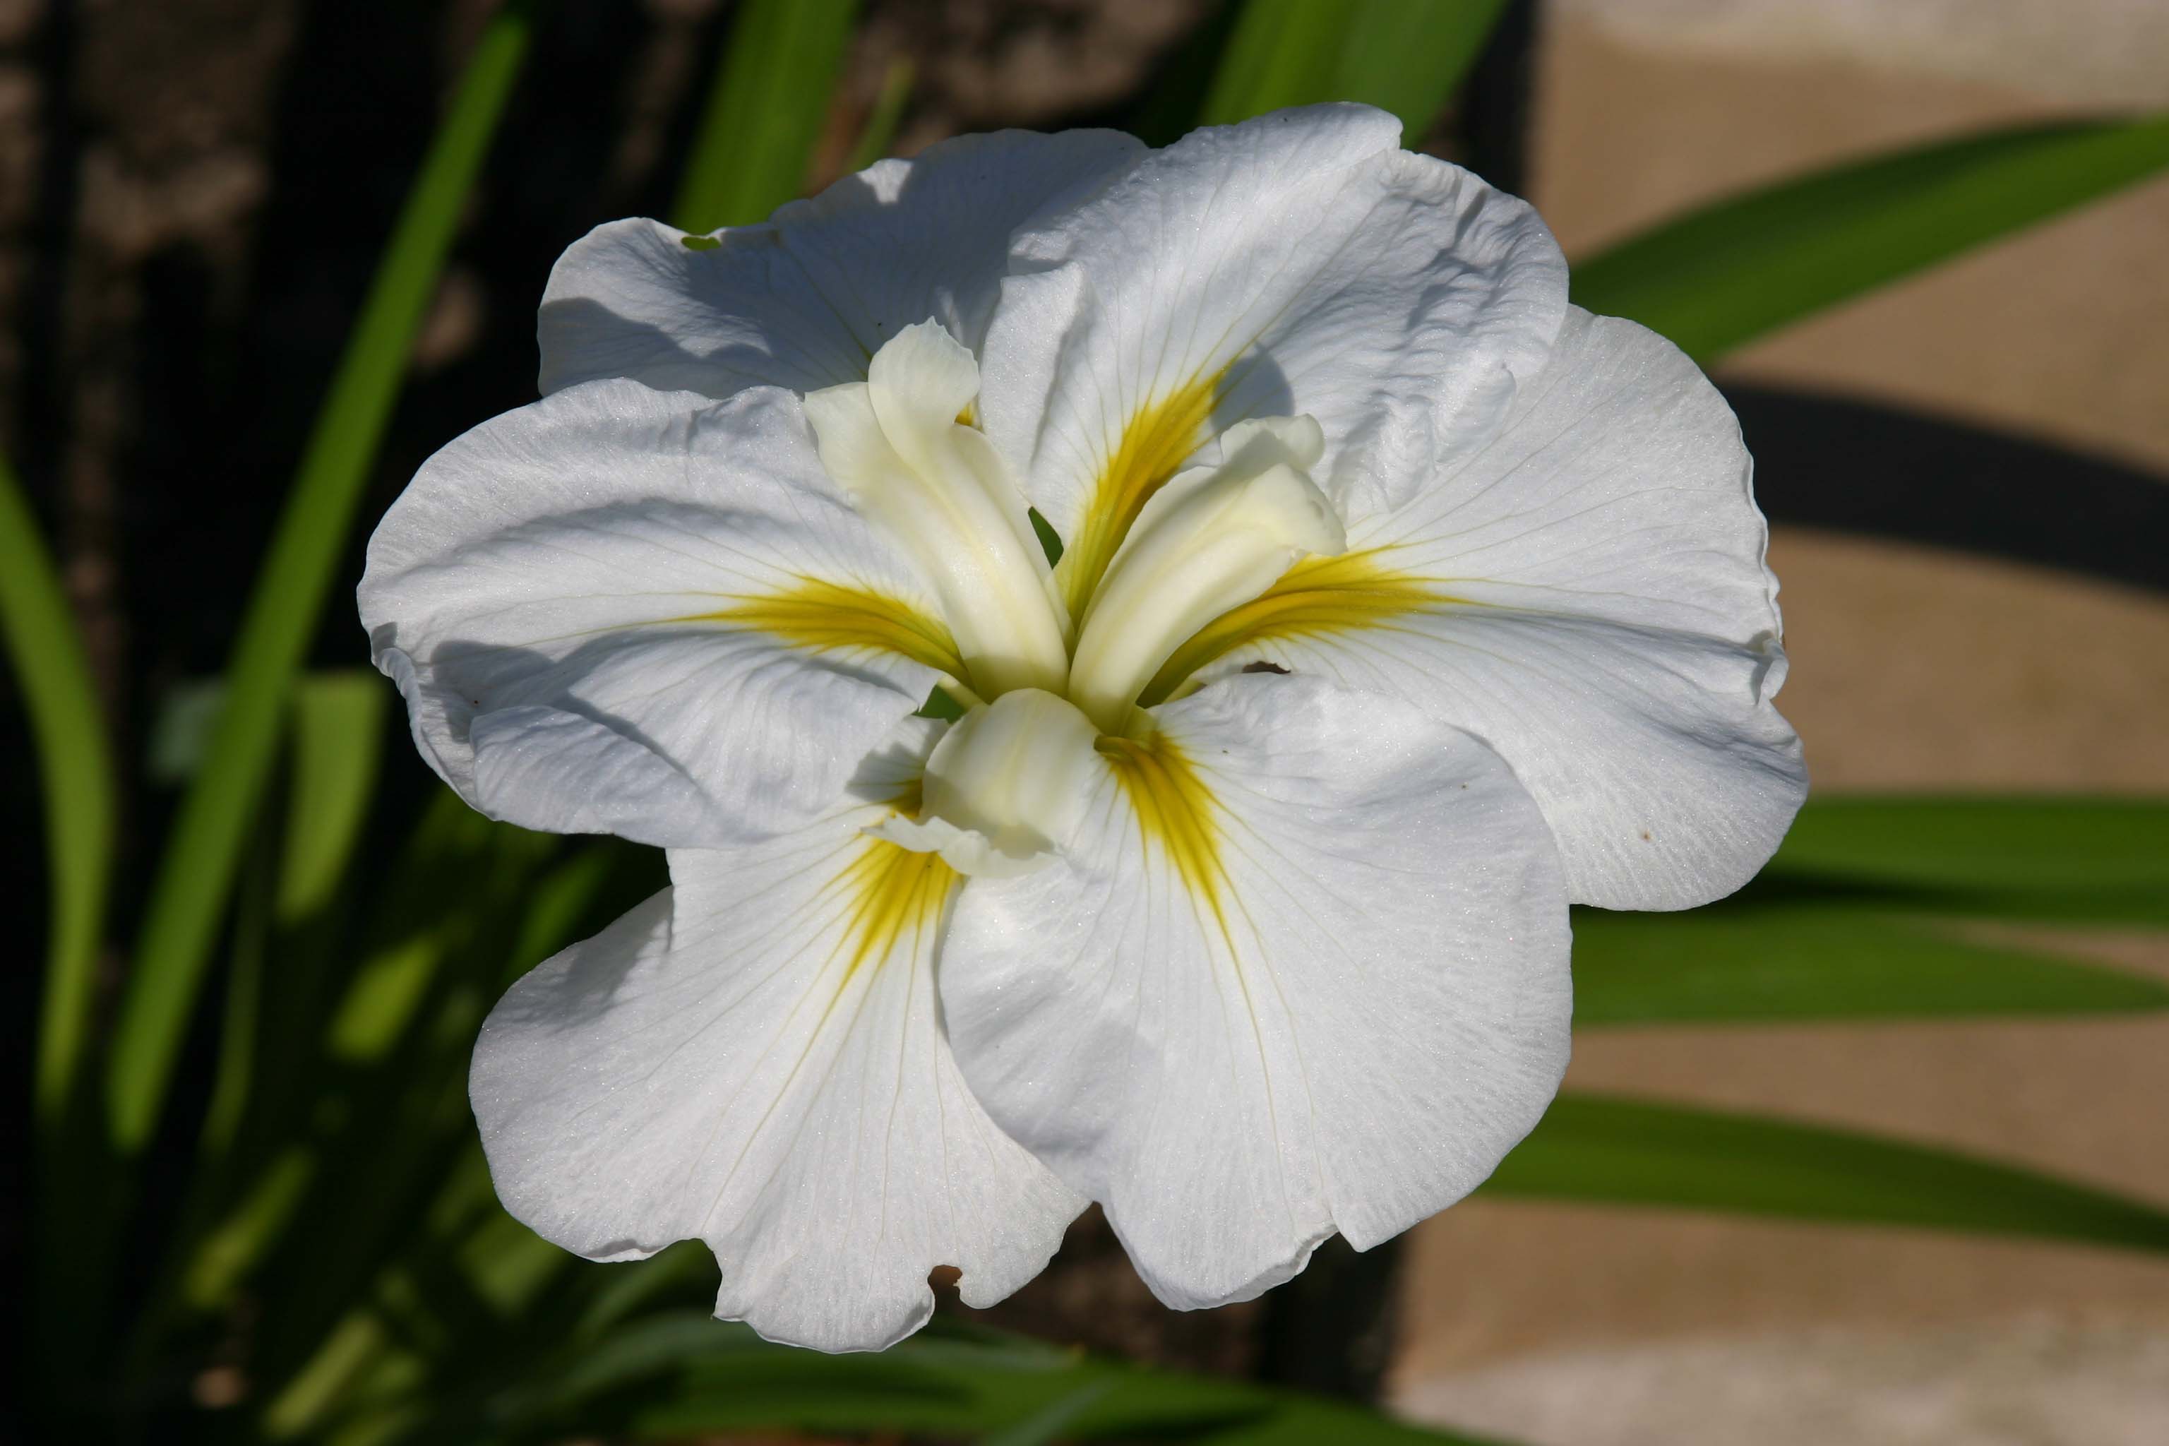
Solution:
<path fill-rule="evenodd" d="M 1959 1151 L 1820 1125 L 1560 1095 L 1488 1195 L 2169 1251 L 2169 1212 Z"/>

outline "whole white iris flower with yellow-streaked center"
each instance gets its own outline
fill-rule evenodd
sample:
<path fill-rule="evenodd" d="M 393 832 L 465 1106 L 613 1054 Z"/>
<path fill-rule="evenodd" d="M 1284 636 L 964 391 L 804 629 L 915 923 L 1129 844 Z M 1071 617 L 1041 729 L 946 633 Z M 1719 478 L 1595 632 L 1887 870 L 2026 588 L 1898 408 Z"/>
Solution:
<path fill-rule="evenodd" d="M 1729 893 L 1802 798 L 1724 401 L 1390 115 L 620 221 L 540 336 L 362 618 L 469 802 L 672 887 L 475 1114 L 516 1216 L 707 1240 L 770 1338 L 998 1301 L 1084 1199 L 1178 1307 L 1386 1240 L 1544 1112 L 1568 902 Z"/>

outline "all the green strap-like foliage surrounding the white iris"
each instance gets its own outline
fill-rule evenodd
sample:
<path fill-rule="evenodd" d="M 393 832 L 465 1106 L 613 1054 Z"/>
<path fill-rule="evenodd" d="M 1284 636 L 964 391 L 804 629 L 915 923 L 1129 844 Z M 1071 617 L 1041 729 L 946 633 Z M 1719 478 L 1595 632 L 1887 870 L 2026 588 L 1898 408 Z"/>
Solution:
<path fill-rule="evenodd" d="M 1503 7 L 1252 0 L 1195 115 L 1366 100 L 1421 139 Z M 848 0 L 740 7 L 675 219 L 757 221 L 798 193 L 850 39 Z M 295 473 L 228 687 L 147 891 L 111 1038 L 91 1030 L 117 774 L 33 516 L 0 470 L 0 624 L 30 709 L 52 911 L 37 1064 L 33 1383 L 56 1439 L 195 1411 L 234 1439 L 527 1442 L 737 1426 L 1024 1444 L 1451 1439 L 1260 1385 L 1093 1359 L 937 1320 L 878 1357 L 768 1346 L 707 1318 L 677 1247 L 596 1268 L 495 1203 L 466 1114 L 499 991 L 659 885 L 649 850 L 490 824 L 442 793 L 390 863 L 358 867 L 395 728 L 373 674 L 299 674 L 414 332 L 536 24 L 488 24 L 393 232 Z M 859 160 L 911 87 L 891 72 Z M 1900 273 L 2169 165 L 2169 121 L 1972 137 L 1705 208 L 1583 264 L 1586 306 L 1711 358 Z M 2158 1010 L 2169 991 L 2017 947 L 1991 926 L 2147 926 L 2169 913 L 2169 806 L 1894 798 L 1811 804 L 1748 891 L 1692 915 L 1577 921 L 1583 1025 Z M 176 1116 L 176 1058 L 217 1067 Z M 184 1158 L 141 1305 L 115 1281 L 143 1155 Z M 2154 1205 L 1928 1145 L 1655 1101 L 1564 1097 L 1488 1186 L 2162 1251 Z M 336 1242 L 336 1249 L 325 1249 Z M 145 1255 L 145 1251 L 137 1251 Z M 134 1292 L 128 1292 L 134 1299 Z M 219 1385 L 236 1331 L 241 1385 Z M 193 1394 L 191 1394 L 193 1392 Z M 191 1407 L 191 1400 L 195 1403 Z M 200 1407 L 200 1409 L 197 1409 Z"/>

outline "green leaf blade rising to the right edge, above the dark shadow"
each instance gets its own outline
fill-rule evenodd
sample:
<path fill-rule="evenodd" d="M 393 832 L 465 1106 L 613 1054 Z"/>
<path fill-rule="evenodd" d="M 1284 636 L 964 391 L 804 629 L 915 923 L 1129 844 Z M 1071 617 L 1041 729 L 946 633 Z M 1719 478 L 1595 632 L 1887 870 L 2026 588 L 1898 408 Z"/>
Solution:
<path fill-rule="evenodd" d="M 1573 299 L 1709 364 L 1776 327 L 2169 167 L 2169 117 L 2028 126 L 1705 206 L 1573 269 Z"/>

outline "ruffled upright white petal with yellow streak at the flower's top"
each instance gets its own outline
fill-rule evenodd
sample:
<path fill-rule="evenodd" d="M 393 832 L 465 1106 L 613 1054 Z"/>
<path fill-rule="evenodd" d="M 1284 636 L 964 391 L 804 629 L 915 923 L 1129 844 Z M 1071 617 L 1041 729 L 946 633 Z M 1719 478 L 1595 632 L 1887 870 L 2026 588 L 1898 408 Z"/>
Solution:
<path fill-rule="evenodd" d="M 1247 416 L 1319 418 L 1312 475 L 1351 514 L 1492 434 L 1566 264 L 1529 206 L 1399 137 L 1369 106 L 1199 130 L 1019 230 L 980 412 L 1067 568 L 1119 544 L 1095 520 L 1117 492 Z"/>

